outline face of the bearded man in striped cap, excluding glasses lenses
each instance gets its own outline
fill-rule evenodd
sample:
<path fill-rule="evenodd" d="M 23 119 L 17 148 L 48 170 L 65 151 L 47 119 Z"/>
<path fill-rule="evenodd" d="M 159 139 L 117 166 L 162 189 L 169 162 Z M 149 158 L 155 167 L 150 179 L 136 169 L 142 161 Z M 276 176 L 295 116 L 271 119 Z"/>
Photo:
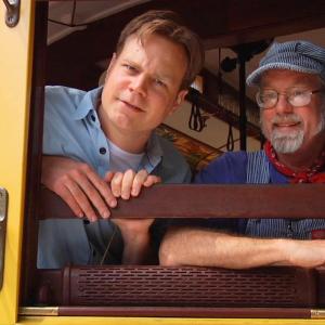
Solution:
<path fill-rule="evenodd" d="M 260 88 L 281 93 L 274 107 L 261 110 L 262 132 L 277 153 L 295 153 L 317 141 L 315 135 L 325 127 L 325 107 L 321 94 L 312 94 L 310 104 L 301 107 L 290 105 L 283 94 L 292 89 L 321 89 L 318 76 L 284 69 L 268 70 L 261 78 Z"/>

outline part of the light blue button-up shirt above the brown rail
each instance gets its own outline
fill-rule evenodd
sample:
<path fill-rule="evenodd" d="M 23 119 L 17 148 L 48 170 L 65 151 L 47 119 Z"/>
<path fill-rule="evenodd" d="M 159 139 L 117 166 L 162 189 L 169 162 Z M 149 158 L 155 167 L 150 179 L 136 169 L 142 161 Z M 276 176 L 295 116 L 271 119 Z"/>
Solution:
<path fill-rule="evenodd" d="M 109 170 L 109 146 L 96 113 L 102 88 L 89 92 L 47 87 L 43 154 L 89 164 L 102 177 Z M 104 153 L 104 154 L 103 154 Z M 161 177 L 165 183 L 191 180 L 184 158 L 173 145 L 153 133 L 139 169 Z"/>

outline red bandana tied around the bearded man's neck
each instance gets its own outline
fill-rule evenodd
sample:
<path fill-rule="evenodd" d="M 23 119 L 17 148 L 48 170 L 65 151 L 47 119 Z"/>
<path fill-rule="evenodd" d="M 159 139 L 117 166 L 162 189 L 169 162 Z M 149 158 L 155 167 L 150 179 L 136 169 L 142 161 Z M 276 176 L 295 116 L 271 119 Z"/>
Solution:
<path fill-rule="evenodd" d="M 290 183 L 325 183 L 325 172 L 320 172 L 325 165 L 325 150 L 323 150 L 320 158 L 316 159 L 314 165 L 303 171 L 294 171 L 284 164 L 280 162 L 270 141 L 265 142 L 264 151 L 273 166 L 281 173 L 290 178 Z"/>

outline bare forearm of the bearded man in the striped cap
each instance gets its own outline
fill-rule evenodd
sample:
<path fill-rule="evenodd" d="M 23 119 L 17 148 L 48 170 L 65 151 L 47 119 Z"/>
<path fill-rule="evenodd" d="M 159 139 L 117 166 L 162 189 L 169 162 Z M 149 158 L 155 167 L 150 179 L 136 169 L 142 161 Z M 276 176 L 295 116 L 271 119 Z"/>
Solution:
<path fill-rule="evenodd" d="M 323 240 L 249 238 L 209 230 L 174 229 L 162 240 L 159 260 L 164 265 L 311 268 L 324 263 L 324 243 L 316 242 Z"/>

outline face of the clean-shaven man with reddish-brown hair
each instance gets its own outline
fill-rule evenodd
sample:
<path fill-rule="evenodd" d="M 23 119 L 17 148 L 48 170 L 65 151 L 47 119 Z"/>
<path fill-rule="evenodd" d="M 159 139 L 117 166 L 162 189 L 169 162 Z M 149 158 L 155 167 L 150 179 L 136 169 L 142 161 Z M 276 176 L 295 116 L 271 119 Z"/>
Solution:
<path fill-rule="evenodd" d="M 101 106 L 106 135 L 148 138 L 183 101 L 186 91 L 180 86 L 186 67 L 181 46 L 155 34 L 143 42 L 131 36 L 107 70 Z"/>

